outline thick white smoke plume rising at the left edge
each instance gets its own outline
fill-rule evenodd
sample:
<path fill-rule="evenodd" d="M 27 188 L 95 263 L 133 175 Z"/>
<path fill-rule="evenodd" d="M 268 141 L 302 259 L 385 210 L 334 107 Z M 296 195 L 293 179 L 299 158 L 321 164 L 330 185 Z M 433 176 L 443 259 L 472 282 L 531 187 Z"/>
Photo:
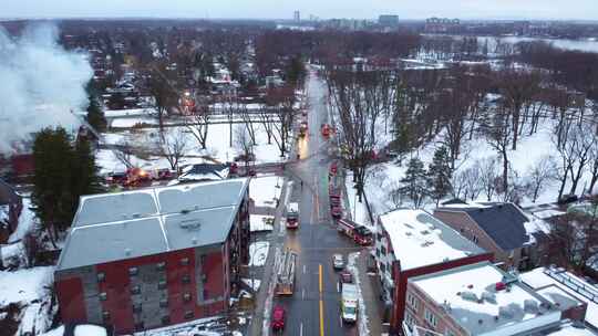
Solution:
<path fill-rule="evenodd" d="M 87 107 L 85 84 L 93 75 L 86 55 L 64 50 L 52 24 L 35 24 L 20 36 L 0 27 L 0 154 L 19 148 L 48 126 L 75 129 L 72 111 Z"/>

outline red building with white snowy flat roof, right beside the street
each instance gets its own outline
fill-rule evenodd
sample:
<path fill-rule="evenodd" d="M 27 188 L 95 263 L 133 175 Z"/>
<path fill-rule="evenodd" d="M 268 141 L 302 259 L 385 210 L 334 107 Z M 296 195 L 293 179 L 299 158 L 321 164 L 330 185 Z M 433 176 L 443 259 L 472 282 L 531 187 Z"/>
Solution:
<path fill-rule="evenodd" d="M 493 255 L 432 214 L 401 209 L 379 217 L 374 259 L 391 330 L 399 333 L 411 277 L 492 261 Z"/>

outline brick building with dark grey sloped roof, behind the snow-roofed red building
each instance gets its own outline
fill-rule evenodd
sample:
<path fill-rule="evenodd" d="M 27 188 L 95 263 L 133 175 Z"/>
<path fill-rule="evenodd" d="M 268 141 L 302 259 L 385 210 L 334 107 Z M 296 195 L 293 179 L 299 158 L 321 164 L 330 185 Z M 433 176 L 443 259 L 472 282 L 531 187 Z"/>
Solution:
<path fill-rule="evenodd" d="M 532 221 L 513 203 L 457 203 L 434 210 L 441 219 L 465 238 L 494 253 L 504 269 L 526 270 L 546 253 L 546 223 Z"/>

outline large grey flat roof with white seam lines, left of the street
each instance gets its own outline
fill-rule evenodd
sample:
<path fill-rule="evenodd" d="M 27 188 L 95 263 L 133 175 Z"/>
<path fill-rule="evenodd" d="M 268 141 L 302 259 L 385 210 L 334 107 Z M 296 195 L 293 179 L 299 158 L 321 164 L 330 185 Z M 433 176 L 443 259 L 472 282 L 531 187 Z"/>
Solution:
<path fill-rule="evenodd" d="M 223 242 L 248 185 L 243 178 L 82 197 L 58 270 Z"/>

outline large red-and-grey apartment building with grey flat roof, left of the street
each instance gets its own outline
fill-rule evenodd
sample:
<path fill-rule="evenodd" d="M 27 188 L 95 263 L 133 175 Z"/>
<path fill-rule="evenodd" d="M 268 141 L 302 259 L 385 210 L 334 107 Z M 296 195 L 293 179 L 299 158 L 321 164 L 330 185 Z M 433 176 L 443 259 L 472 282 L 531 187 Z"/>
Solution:
<path fill-rule="evenodd" d="M 248 203 L 247 179 L 82 197 L 54 274 L 62 321 L 124 334 L 226 312 Z"/>

